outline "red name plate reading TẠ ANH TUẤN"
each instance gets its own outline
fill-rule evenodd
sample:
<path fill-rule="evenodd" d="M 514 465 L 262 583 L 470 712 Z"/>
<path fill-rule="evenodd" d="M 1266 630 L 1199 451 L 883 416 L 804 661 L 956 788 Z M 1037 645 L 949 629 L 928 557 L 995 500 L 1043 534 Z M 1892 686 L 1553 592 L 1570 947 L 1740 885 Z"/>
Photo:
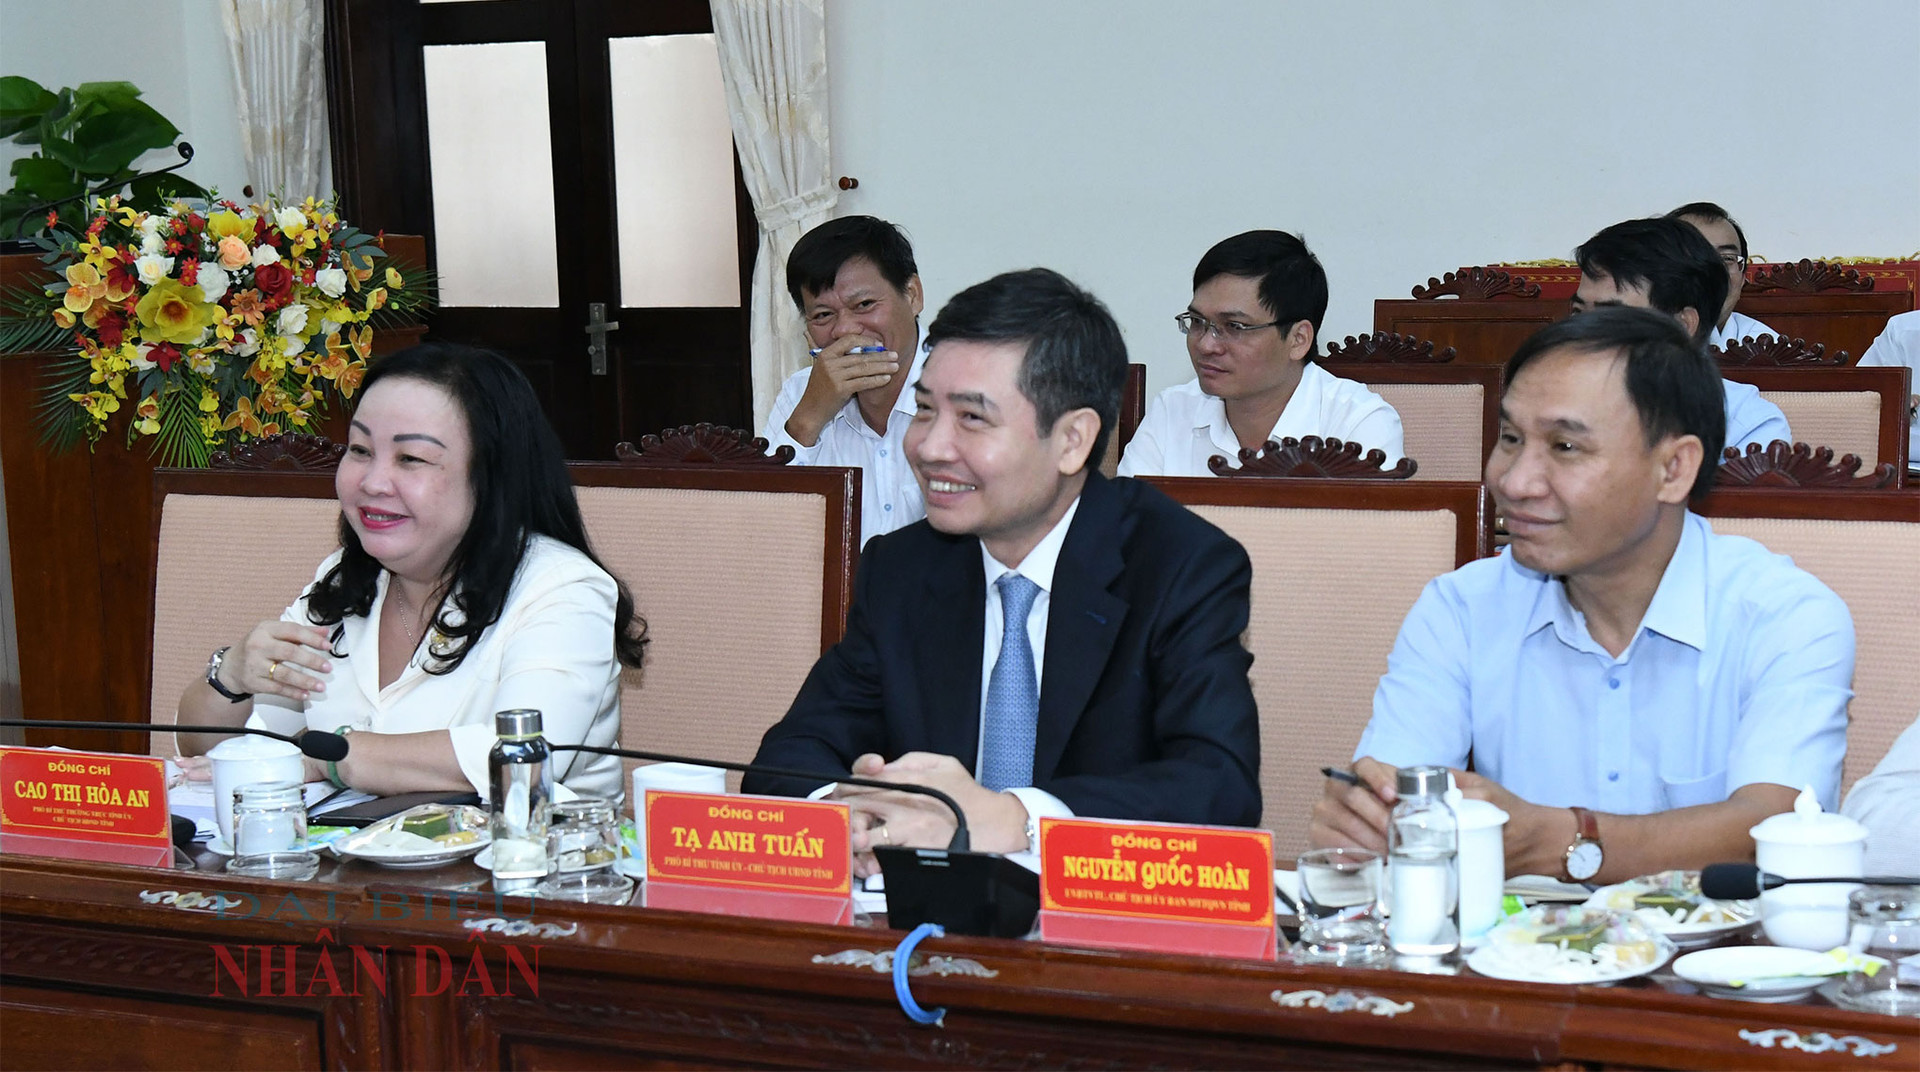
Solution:
<path fill-rule="evenodd" d="M 852 922 L 843 803 L 647 790 L 647 907 Z"/>

